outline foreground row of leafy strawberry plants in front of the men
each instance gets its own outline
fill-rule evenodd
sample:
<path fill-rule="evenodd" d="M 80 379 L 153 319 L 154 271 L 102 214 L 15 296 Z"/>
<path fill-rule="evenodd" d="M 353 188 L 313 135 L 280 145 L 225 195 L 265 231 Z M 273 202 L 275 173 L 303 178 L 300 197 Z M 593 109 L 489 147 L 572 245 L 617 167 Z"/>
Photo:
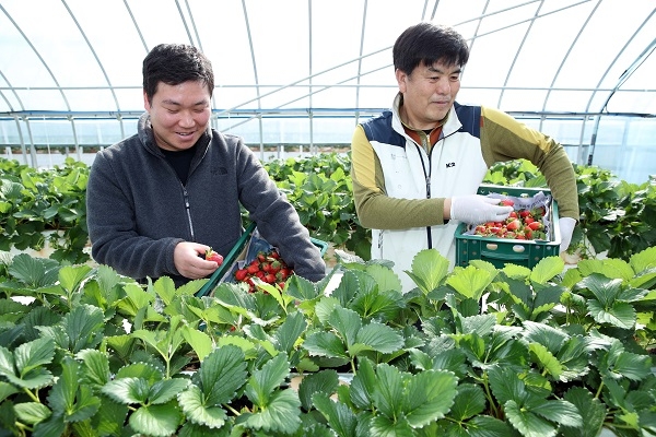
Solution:
<path fill-rule="evenodd" d="M 448 271 L 142 285 L 0 263 L 0 436 L 617 436 L 656 432 L 656 248 Z M 294 381 L 301 379 L 297 387 Z"/>

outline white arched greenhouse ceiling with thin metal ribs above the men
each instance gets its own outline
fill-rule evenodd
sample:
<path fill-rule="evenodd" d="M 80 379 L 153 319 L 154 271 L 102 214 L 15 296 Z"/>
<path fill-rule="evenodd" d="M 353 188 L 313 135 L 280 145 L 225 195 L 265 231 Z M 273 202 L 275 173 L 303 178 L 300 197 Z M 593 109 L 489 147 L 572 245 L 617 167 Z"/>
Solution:
<path fill-rule="evenodd" d="M 215 117 L 373 114 L 396 94 L 391 46 L 419 21 L 471 46 L 459 101 L 513 114 L 656 114 L 653 0 L 1 0 L 0 117 L 143 111 L 160 43 L 212 60 Z"/>

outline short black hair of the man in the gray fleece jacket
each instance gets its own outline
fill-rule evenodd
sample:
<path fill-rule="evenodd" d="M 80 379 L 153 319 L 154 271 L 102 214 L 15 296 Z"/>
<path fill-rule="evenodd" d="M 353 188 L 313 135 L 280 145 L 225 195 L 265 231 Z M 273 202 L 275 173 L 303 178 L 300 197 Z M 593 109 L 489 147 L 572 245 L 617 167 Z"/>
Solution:
<path fill-rule="evenodd" d="M 157 84 L 179 85 L 187 81 L 202 81 L 214 92 L 212 62 L 196 47 L 186 44 L 160 44 L 143 59 L 143 91 L 149 102 Z"/>

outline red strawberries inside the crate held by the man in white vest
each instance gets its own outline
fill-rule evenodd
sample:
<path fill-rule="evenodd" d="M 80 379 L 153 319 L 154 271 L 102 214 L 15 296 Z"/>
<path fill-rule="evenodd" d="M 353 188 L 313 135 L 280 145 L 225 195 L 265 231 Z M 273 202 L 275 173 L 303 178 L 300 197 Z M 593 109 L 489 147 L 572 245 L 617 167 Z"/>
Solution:
<path fill-rule="evenodd" d="M 515 206 L 515 202 L 511 199 L 502 200 L 501 204 Z M 542 223 L 544 212 L 544 206 L 516 210 L 511 212 L 505 222 L 488 222 L 476 226 L 473 234 L 508 239 L 547 239 Z"/>

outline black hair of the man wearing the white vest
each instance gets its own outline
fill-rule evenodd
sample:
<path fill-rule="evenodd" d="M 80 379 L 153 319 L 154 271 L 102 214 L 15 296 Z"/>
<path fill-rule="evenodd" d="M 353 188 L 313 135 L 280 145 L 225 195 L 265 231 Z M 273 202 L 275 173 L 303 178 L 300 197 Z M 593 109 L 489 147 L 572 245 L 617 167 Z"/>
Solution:
<path fill-rule="evenodd" d="M 407 74 L 422 62 L 429 67 L 436 61 L 464 67 L 469 60 L 469 47 L 462 35 L 453 27 L 430 22 L 421 22 L 403 31 L 391 54 L 395 70 Z"/>

